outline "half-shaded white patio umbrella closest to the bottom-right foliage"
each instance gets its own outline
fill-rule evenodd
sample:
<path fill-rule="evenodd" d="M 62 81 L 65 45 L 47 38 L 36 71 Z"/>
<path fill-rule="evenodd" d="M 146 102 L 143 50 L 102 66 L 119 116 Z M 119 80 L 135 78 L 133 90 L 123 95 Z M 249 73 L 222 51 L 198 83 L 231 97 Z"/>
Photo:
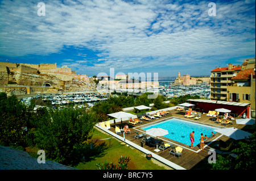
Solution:
<path fill-rule="evenodd" d="M 242 131 L 241 129 L 237 128 L 223 128 L 223 129 L 215 129 L 214 131 L 224 134 L 230 138 L 233 138 L 234 140 L 242 140 L 245 139 L 246 137 L 249 137 L 251 133 Z"/>

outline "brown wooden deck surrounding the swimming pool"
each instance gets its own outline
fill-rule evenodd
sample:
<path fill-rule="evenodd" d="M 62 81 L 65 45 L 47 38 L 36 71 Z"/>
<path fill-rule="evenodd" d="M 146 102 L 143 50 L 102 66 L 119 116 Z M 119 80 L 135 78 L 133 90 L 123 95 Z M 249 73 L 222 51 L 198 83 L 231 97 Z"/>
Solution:
<path fill-rule="evenodd" d="M 163 116 L 160 119 L 156 119 L 156 120 L 152 120 L 152 121 L 143 120 L 142 124 L 137 124 L 137 125 L 129 124 L 127 120 L 123 121 L 122 126 L 127 124 L 127 125 L 129 125 L 129 128 L 131 130 L 131 133 L 125 134 L 125 138 L 127 140 L 133 142 L 134 144 L 141 146 L 142 138 L 139 138 L 138 140 L 137 140 L 137 138 L 134 138 L 134 136 L 136 134 L 135 131 L 138 131 L 139 134 L 146 133 L 146 131 L 141 129 L 142 127 L 144 127 L 146 125 L 150 125 L 150 124 L 159 123 L 160 121 L 168 120 L 171 117 L 177 117 L 179 119 L 192 121 L 194 123 L 210 125 L 212 127 L 216 127 L 216 129 L 218 129 L 220 127 L 222 127 L 222 128 L 236 127 L 238 129 L 242 129 L 243 127 L 245 127 L 245 125 L 236 124 L 236 120 L 233 120 L 234 121 L 233 124 L 228 124 L 228 125 L 221 125 L 221 124 L 214 123 L 214 121 L 212 121 L 213 117 L 206 116 L 206 113 L 201 115 L 201 119 L 195 120 L 194 118 L 189 119 L 189 118 L 184 117 L 185 111 L 179 112 L 179 111 L 171 110 L 170 112 L 171 113 L 169 113 L 166 116 Z M 115 133 L 115 125 L 119 126 L 120 124 L 121 123 L 111 124 L 110 125 L 111 128 L 109 129 L 109 131 Z M 195 134 L 199 134 L 199 136 L 200 136 L 201 133 L 195 133 Z M 121 134 L 121 135 L 119 134 L 119 136 L 123 136 L 123 134 Z M 147 136 L 149 136 L 149 135 L 147 135 Z M 194 145 L 194 148 L 191 149 L 188 145 L 181 144 L 180 142 L 177 142 L 174 140 L 170 140 L 166 137 L 158 137 L 158 138 L 163 140 L 164 143 L 170 142 L 175 146 L 181 146 L 182 148 L 184 148 L 182 157 L 178 158 L 177 156 L 174 157 L 173 154 L 169 155 L 170 149 L 168 149 L 168 148 L 165 149 L 164 151 L 160 150 L 159 152 L 156 152 L 156 151 L 154 151 L 155 150 L 154 147 L 151 148 L 150 146 L 145 145 L 144 142 L 142 145 L 143 148 L 147 149 L 147 150 L 151 151 L 152 153 L 155 153 L 155 154 L 159 155 L 160 157 L 165 158 L 168 161 L 175 163 L 176 165 L 179 165 L 187 170 L 195 169 L 196 165 L 199 164 L 201 161 L 203 161 L 203 159 L 208 159 L 208 156 L 209 156 L 207 153 L 208 149 L 210 149 L 214 145 L 216 145 L 219 140 L 222 140 L 225 142 L 230 142 L 230 140 L 231 140 L 227 136 L 221 135 L 220 133 L 216 133 L 216 136 L 214 136 L 213 138 L 210 139 L 210 141 L 211 141 L 210 144 L 209 143 L 208 143 L 209 145 L 205 144 L 205 148 L 203 150 L 200 150 L 200 148 L 199 148 L 200 145 Z M 188 139 L 189 139 L 189 135 L 188 135 Z"/>

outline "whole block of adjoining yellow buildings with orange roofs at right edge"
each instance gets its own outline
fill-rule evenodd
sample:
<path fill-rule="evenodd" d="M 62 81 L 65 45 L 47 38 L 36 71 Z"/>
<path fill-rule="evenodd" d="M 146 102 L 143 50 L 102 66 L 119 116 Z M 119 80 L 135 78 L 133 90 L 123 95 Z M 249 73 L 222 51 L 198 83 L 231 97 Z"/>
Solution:
<path fill-rule="evenodd" d="M 244 60 L 241 66 L 229 64 L 226 68 L 212 70 L 210 98 L 250 103 L 255 115 L 255 58 Z"/>

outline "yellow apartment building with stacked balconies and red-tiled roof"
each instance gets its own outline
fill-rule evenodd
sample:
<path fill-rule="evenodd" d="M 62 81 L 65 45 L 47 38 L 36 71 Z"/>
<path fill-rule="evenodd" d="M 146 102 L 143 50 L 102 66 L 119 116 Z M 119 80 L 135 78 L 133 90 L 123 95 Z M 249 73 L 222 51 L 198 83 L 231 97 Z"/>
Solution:
<path fill-rule="evenodd" d="M 227 89 L 232 78 L 241 70 L 240 65 L 228 64 L 228 67 L 217 68 L 210 75 L 210 99 L 228 100 Z"/>

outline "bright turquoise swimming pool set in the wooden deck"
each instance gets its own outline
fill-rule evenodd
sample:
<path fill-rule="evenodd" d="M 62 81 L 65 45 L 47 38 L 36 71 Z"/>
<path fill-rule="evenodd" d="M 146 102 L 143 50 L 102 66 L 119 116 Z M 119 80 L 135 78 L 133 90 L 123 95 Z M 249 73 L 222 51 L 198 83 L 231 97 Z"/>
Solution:
<path fill-rule="evenodd" d="M 167 121 L 163 121 L 161 123 L 150 125 L 148 127 L 143 127 L 142 129 L 147 130 L 156 127 L 168 130 L 169 134 L 165 135 L 164 137 L 169 138 L 171 140 L 175 140 L 177 142 L 181 142 L 189 146 L 191 145 L 189 134 L 192 133 L 192 131 L 195 131 L 195 142 L 193 144 L 194 146 L 200 144 L 201 133 L 203 133 L 204 136 L 206 134 L 207 137 L 210 137 L 212 135 L 212 132 L 214 134 L 216 133 L 213 131 L 214 129 L 216 129 L 214 127 L 208 127 L 206 125 L 191 123 L 188 121 L 174 118 Z"/>

